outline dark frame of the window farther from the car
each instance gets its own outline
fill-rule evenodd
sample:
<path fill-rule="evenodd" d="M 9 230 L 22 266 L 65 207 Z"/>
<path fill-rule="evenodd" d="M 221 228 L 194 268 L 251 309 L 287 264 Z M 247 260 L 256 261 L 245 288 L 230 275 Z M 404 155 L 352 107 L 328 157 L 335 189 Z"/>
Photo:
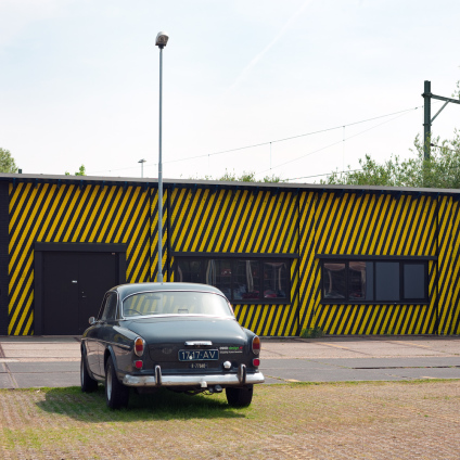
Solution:
<path fill-rule="evenodd" d="M 397 256 L 387 256 L 387 257 L 370 257 L 370 256 L 325 256 L 317 255 L 320 258 L 320 304 L 322 305 L 429 305 L 430 304 L 430 292 L 429 292 L 429 261 L 435 260 L 435 257 L 397 257 Z M 349 263 L 350 261 L 366 261 L 372 263 L 372 301 L 358 301 L 350 298 L 350 273 L 349 273 Z M 376 278 L 378 278 L 378 263 L 397 263 L 399 265 L 399 277 L 398 277 L 398 295 L 397 301 L 381 299 L 376 301 Z M 345 289 L 346 295 L 345 298 L 331 298 L 324 297 L 324 264 L 345 264 Z M 406 265 L 423 265 L 423 283 L 424 283 L 424 297 L 423 298 L 412 298 L 405 296 L 405 266 Z"/>

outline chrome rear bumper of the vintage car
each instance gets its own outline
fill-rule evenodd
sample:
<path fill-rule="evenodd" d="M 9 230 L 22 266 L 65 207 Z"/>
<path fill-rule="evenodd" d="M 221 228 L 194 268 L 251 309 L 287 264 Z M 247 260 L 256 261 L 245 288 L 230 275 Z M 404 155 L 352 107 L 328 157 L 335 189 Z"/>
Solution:
<path fill-rule="evenodd" d="M 196 386 L 207 388 L 213 385 L 240 386 L 264 383 L 261 372 L 246 373 L 246 367 L 241 365 L 238 373 L 216 375 L 163 375 L 159 366 L 155 367 L 155 375 L 130 375 L 123 379 L 127 386 Z"/>

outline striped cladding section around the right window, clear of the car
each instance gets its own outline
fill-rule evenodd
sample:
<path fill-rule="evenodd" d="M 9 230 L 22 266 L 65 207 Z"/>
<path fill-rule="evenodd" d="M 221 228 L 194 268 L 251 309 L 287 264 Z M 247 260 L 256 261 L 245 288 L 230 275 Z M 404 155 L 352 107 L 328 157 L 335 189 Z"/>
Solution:
<path fill-rule="evenodd" d="M 305 220 L 306 231 L 314 234 L 315 248 L 311 242 L 301 244 L 305 247 L 301 279 L 311 286 L 301 290 L 301 324 L 319 327 L 329 334 L 436 332 L 440 315 L 436 261 L 429 261 L 429 305 L 328 305 L 321 304 L 321 264 L 315 253 L 436 256 L 437 206 L 437 200 L 426 195 L 322 193 L 315 199 L 312 194 L 304 197 L 301 214 L 307 216 L 302 216 L 301 221 Z"/>

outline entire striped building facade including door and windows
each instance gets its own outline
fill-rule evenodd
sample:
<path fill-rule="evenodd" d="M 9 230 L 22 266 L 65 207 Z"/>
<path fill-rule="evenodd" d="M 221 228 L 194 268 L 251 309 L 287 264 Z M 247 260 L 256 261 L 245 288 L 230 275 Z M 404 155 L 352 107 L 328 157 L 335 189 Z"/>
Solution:
<path fill-rule="evenodd" d="M 216 285 L 260 335 L 459 334 L 459 197 L 166 180 L 164 280 Z M 152 179 L 0 175 L 0 334 L 81 333 L 157 266 Z"/>

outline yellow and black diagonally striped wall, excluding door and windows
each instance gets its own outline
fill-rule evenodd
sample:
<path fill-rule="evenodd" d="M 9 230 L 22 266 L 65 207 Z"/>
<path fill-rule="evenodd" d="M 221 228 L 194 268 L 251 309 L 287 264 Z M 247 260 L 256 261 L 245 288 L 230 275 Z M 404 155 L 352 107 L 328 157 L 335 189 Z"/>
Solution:
<path fill-rule="evenodd" d="M 164 183 L 163 272 L 183 255 L 290 260 L 288 304 L 234 305 L 260 335 L 458 334 L 456 191 L 308 184 Z M 157 183 L 152 179 L 0 175 L 0 334 L 34 334 L 35 243 L 124 243 L 127 282 L 157 274 Z M 321 260 L 426 259 L 425 304 L 328 304 Z"/>

